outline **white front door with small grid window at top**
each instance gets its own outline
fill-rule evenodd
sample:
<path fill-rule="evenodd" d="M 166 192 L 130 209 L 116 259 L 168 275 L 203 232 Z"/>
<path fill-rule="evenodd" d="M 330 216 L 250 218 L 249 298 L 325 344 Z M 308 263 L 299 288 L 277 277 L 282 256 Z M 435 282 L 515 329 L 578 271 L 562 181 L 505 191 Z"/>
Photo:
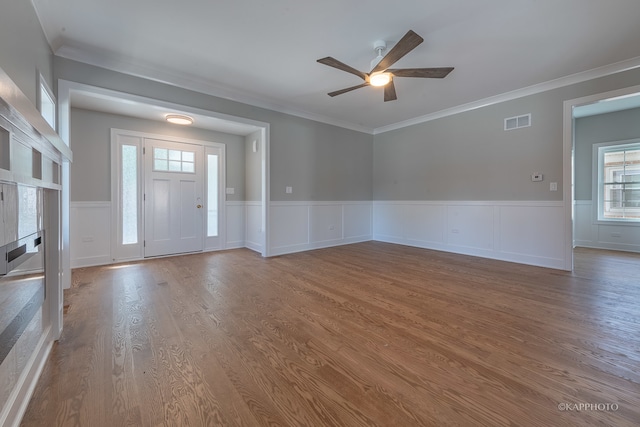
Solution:
<path fill-rule="evenodd" d="M 150 138 L 144 145 L 144 256 L 202 251 L 202 146 Z"/>

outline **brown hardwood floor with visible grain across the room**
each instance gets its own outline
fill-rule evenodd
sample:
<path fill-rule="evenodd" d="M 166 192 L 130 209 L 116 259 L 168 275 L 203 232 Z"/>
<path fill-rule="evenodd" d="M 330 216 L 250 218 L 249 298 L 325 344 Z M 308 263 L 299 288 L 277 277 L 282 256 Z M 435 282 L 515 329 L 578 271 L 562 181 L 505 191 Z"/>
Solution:
<path fill-rule="evenodd" d="M 637 254 L 233 250 L 75 270 L 65 297 L 23 426 L 640 424 Z"/>

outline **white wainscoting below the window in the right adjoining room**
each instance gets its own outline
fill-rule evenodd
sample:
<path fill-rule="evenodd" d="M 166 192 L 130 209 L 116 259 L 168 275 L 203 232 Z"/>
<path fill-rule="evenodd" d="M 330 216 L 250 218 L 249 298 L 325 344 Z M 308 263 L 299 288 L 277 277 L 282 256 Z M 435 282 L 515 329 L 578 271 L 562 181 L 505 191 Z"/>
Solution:
<path fill-rule="evenodd" d="M 576 200 L 573 209 L 574 246 L 640 252 L 640 225 L 596 223 L 591 200 Z"/>

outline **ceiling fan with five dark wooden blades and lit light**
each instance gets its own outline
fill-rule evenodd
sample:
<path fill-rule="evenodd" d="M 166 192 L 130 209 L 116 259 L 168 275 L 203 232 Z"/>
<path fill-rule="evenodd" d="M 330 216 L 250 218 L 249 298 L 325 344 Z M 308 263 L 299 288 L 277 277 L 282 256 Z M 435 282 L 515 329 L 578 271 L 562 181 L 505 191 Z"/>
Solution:
<path fill-rule="evenodd" d="M 447 74 L 453 71 L 453 67 L 389 68 L 398 62 L 400 58 L 415 49 L 423 41 L 424 39 L 422 37 L 409 30 L 385 56 L 382 56 L 382 51 L 386 49 L 386 43 L 384 41 L 375 42 L 374 49 L 378 52 L 378 56 L 372 61 L 372 69 L 369 73 L 363 73 L 362 71 L 356 70 L 355 68 L 350 67 L 330 56 L 318 59 L 318 62 L 321 64 L 346 71 L 347 73 L 355 74 L 364 80 L 364 83 L 362 84 L 329 92 L 328 95 L 332 97 L 342 95 L 343 93 L 351 92 L 352 90 L 366 86 L 384 86 L 384 101 L 394 101 L 398 99 L 396 96 L 396 88 L 393 83 L 394 77 L 421 77 L 435 79 L 446 77 Z"/>

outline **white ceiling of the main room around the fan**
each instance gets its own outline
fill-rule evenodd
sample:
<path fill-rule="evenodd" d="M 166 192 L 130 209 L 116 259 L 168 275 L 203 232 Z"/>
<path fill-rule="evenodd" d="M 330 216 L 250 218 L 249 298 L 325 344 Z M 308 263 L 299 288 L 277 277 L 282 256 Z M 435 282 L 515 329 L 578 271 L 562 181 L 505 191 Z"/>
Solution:
<path fill-rule="evenodd" d="M 372 130 L 609 64 L 640 65 L 638 0 L 32 0 L 57 55 L 201 92 Z M 395 68 L 445 79 L 361 83 L 373 42 L 425 41 Z M 635 61 L 635 62 L 634 62 Z"/>

